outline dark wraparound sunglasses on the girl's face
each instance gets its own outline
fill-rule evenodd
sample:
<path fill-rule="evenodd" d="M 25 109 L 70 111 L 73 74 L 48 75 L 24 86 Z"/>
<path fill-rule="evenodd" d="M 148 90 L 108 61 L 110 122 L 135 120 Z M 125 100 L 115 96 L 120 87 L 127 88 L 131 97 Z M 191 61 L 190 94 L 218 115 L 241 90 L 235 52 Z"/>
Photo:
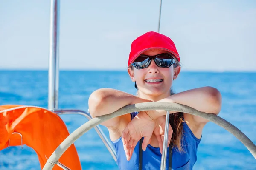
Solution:
<path fill-rule="evenodd" d="M 152 59 L 154 59 L 154 62 L 158 67 L 168 68 L 171 65 L 176 64 L 175 59 L 171 54 L 162 53 L 155 56 L 140 55 L 131 65 L 137 69 L 147 68 Z"/>

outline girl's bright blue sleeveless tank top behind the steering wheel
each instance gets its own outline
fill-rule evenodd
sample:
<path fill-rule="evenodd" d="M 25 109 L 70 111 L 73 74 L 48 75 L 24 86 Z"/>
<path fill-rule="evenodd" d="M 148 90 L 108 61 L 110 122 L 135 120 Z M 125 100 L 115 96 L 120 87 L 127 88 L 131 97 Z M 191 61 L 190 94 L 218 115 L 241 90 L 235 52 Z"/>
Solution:
<path fill-rule="evenodd" d="M 131 113 L 133 119 L 137 113 Z M 172 170 L 192 170 L 197 160 L 197 148 L 201 139 L 197 139 L 186 122 L 183 123 L 183 138 L 181 144 L 183 145 L 184 153 L 180 153 L 177 149 L 172 150 Z M 116 148 L 116 163 L 120 170 L 138 170 L 139 169 L 139 144 L 134 148 L 134 153 L 130 161 L 127 161 L 125 150 L 121 137 L 113 141 Z M 161 153 L 159 147 L 153 147 L 150 144 L 142 153 L 142 169 L 143 170 L 160 170 Z M 166 170 L 169 170 L 169 147 L 167 148 Z"/>

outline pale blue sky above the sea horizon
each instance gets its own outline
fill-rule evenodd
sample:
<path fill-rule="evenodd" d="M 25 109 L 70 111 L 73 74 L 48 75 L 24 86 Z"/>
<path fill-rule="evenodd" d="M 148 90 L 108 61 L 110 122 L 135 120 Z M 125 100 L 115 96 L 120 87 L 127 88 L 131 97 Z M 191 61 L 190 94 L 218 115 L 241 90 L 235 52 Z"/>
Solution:
<path fill-rule="evenodd" d="M 49 0 L 0 0 L 0 69 L 47 69 Z M 131 42 L 157 31 L 159 0 L 61 0 L 60 69 L 125 70 Z M 163 0 L 160 33 L 183 70 L 256 71 L 255 0 Z"/>

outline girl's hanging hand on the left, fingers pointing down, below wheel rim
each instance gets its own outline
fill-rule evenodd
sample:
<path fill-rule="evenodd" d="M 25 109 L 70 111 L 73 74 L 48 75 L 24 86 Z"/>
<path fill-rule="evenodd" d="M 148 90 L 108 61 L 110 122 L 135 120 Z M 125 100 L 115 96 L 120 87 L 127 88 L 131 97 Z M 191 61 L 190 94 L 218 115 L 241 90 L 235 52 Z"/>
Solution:
<path fill-rule="evenodd" d="M 156 121 L 148 116 L 147 111 L 141 111 L 125 127 L 125 130 L 122 132 L 122 142 L 128 161 L 131 159 L 136 144 L 142 137 L 144 137 L 142 150 L 146 150 L 146 147 L 151 142 L 151 136 L 155 128 Z"/>

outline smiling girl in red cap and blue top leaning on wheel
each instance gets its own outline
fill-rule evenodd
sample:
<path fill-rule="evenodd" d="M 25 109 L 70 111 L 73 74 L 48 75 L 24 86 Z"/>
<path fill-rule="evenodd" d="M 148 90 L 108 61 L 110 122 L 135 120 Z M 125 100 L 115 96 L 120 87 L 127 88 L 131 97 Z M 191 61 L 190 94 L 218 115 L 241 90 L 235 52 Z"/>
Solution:
<path fill-rule="evenodd" d="M 215 88 L 202 87 L 178 94 L 172 92 L 172 82 L 180 73 L 179 63 L 179 54 L 169 37 L 156 32 L 138 37 L 131 44 L 128 59 L 128 74 L 135 82 L 137 96 L 114 89 L 96 90 L 89 98 L 91 116 L 109 114 L 140 102 L 175 102 L 218 114 L 221 94 Z M 108 128 L 116 148 L 120 170 L 160 169 L 165 119 L 166 111 L 141 111 L 102 123 Z M 191 114 L 170 112 L 166 170 L 193 168 L 207 122 Z"/>

